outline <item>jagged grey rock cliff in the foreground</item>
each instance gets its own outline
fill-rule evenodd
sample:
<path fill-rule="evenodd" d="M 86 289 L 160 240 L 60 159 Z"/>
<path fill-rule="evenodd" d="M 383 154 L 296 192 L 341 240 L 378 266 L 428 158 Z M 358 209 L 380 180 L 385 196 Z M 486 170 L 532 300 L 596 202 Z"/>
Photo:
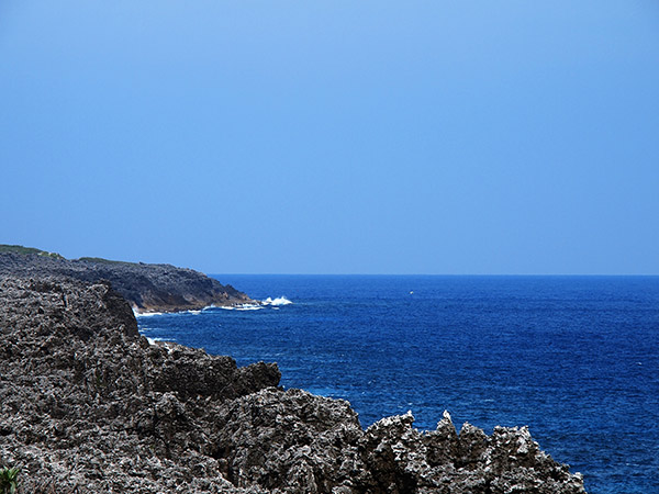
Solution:
<path fill-rule="evenodd" d="M 276 364 L 149 345 L 107 284 L 0 277 L 0 464 L 30 493 L 583 493 L 525 428 L 361 429 Z"/>

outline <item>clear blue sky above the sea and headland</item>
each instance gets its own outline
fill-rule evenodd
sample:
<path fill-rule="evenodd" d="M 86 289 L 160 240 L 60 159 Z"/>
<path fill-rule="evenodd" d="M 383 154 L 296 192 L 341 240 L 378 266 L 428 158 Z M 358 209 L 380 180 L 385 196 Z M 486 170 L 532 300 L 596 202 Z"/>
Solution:
<path fill-rule="evenodd" d="M 659 274 L 656 0 L 0 0 L 0 243 Z"/>

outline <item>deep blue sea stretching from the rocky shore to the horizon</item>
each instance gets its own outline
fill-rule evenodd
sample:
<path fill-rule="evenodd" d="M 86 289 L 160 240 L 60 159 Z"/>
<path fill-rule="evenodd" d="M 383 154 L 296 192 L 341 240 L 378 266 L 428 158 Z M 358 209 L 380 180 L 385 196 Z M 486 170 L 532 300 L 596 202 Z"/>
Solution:
<path fill-rule="evenodd" d="M 659 277 L 215 278 L 292 304 L 139 317 L 143 334 L 278 362 L 365 427 L 528 425 L 591 494 L 659 493 Z"/>

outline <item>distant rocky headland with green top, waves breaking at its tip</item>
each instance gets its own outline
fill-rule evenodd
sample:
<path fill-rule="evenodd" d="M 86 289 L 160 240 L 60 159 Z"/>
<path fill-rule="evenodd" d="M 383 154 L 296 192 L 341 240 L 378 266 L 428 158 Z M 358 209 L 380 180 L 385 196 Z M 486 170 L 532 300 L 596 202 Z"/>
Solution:
<path fill-rule="evenodd" d="M 191 269 L 170 265 L 109 261 L 98 258 L 68 260 L 37 254 L 0 250 L 0 274 L 64 276 L 86 282 L 108 280 L 139 311 L 174 312 L 208 305 L 236 305 L 252 300 L 231 285 Z"/>

